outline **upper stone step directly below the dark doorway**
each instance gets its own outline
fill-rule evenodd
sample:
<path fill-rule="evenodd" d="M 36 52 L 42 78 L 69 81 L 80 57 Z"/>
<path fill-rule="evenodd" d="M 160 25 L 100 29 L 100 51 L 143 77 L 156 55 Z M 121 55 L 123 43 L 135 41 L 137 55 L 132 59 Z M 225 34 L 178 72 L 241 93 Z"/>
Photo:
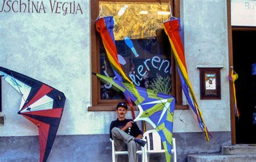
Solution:
<path fill-rule="evenodd" d="M 223 146 L 221 149 L 222 154 L 237 154 L 247 155 L 256 154 L 256 145 L 234 145 L 234 146 Z"/>

